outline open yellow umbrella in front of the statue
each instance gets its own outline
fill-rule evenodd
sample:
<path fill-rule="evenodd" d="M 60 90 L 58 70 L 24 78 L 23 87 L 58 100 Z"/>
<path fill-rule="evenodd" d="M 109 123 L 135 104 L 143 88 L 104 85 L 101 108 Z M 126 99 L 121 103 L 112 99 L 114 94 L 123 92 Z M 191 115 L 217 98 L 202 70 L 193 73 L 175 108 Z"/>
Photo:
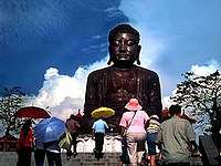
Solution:
<path fill-rule="evenodd" d="M 110 117 L 115 114 L 115 111 L 109 107 L 99 107 L 92 112 L 92 117 L 98 118 L 98 117 Z"/>

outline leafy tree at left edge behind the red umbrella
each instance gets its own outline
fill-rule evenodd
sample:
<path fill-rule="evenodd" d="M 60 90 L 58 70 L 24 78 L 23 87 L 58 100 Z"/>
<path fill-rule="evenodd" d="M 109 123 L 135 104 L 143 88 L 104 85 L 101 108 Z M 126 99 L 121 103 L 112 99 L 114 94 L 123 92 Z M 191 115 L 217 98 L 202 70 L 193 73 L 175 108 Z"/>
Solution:
<path fill-rule="evenodd" d="M 22 121 L 15 118 L 13 115 L 19 108 L 24 106 L 25 98 L 27 96 L 21 87 L 1 90 L 0 122 L 2 126 L 0 129 L 4 135 L 19 133 Z"/>

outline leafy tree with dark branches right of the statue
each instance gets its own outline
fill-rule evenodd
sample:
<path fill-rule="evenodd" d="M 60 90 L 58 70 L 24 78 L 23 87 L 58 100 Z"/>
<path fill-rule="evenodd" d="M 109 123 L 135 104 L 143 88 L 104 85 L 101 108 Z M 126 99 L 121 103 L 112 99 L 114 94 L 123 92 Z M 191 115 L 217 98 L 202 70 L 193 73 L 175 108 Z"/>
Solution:
<path fill-rule="evenodd" d="M 212 137 L 220 146 L 221 128 L 221 74 L 215 71 L 207 76 L 196 75 L 193 72 L 183 74 L 185 81 L 177 85 L 173 102 L 182 105 L 192 116 L 200 117 L 208 114 L 210 117 Z"/>

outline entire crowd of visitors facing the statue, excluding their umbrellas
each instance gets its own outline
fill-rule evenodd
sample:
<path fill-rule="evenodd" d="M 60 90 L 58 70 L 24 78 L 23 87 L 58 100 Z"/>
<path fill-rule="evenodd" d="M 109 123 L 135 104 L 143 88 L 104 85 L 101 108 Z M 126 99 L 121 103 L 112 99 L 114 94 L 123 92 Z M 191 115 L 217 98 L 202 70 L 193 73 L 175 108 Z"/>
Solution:
<path fill-rule="evenodd" d="M 123 114 L 119 122 L 122 128 L 119 165 L 141 166 L 149 163 L 150 166 L 156 166 L 159 162 L 165 166 L 190 165 L 191 154 L 196 153 L 198 147 L 194 142 L 192 124 L 181 116 L 181 106 L 171 105 L 169 117 L 162 122 L 157 115 L 149 116 L 143 111 L 137 98 L 130 98 L 125 108 L 127 112 Z M 59 139 L 49 143 L 39 142 L 38 138 L 34 138 L 31 124 L 31 120 L 27 120 L 20 131 L 17 165 L 30 166 L 31 153 L 34 149 L 36 166 L 44 165 L 45 156 L 49 166 L 62 166 Z M 74 157 L 77 155 L 76 139 L 81 126 L 73 114 L 66 120 L 65 126 L 72 137 L 71 146 L 66 148 L 66 158 L 70 159 L 72 155 Z M 92 138 L 95 141 L 94 154 L 97 160 L 103 158 L 104 136 L 108 128 L 105 117 L 101 116 L 94 120 Z"/>

